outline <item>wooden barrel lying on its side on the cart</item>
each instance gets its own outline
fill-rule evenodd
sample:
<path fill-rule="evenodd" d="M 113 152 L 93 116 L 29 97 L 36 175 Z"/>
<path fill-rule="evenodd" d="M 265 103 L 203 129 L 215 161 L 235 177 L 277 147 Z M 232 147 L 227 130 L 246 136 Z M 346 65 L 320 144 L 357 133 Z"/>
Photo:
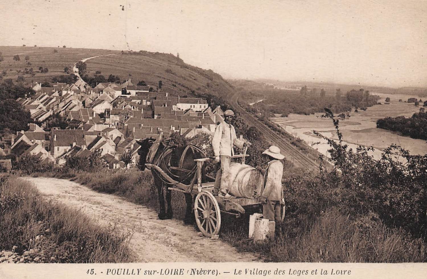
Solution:
<path fill-rule="evenodd" d="M 263 174 L 254 167 L 230 164 L 230 186 L 228 193 L 237 198 L 258 198 L 264 189 Z"/>

